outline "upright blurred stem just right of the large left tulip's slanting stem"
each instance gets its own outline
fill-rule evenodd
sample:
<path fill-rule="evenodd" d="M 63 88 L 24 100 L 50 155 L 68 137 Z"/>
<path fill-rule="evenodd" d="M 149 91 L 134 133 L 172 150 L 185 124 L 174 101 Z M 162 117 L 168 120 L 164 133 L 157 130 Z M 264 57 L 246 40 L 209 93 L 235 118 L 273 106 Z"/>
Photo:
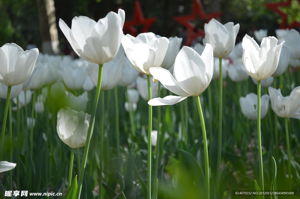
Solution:
<path fill-rule="evenodd" d="M 103 171 L 103 159 L 104 159 L 104 150 L 103 150 L 103 144 L 104 144 L 104 92 L 101 94 L 101 137 L 100 137 L 100 164 L 99 164 L 99 196 L 102 197 L 102 171 Z M 108 138 L 107 138 L 108 139 Z M 107 157 L 108 158 L 108 157 Z"/>

